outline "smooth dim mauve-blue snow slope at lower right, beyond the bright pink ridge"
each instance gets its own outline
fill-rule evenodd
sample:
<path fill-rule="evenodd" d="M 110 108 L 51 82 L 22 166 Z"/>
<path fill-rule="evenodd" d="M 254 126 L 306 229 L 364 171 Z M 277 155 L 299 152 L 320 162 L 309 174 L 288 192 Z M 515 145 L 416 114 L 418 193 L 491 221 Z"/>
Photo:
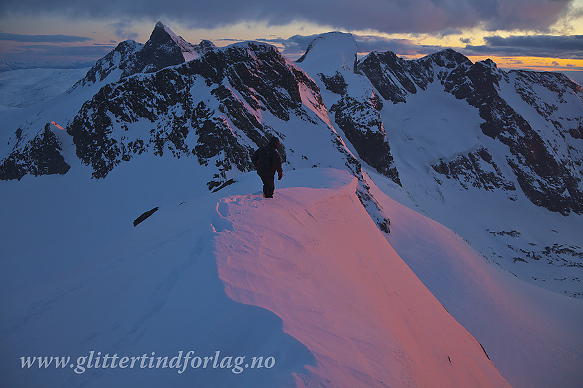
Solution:
<path fill-rule="evenodd" d="M 371 186 L 390 217 L 392 247 L 512 387 L 580 387 L 582 300 L 491 266 L 462 237 Z"/>

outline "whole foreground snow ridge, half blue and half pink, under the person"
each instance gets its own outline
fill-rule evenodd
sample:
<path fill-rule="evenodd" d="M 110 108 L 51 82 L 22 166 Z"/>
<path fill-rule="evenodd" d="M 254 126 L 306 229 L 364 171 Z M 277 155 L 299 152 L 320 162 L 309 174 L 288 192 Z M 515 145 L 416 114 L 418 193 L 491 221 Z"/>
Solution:
<path fill-rule="evenodd" d="M 3 380 L 43 387 L 508 387 L 392 250 L 359 203 L 354 177 L 296 170 L 285 177 L 292 187 L 278 188 L 269 202 L 244 194 L 258 186 L 255 174 L 244 174 L 222 194 L 160 207 L 62 275 L 2 294 Z M 93 351 L 149 361 L 189 350 L 275 363 L 237 374 L 231 359 L 230 366 L 178 373 L 147 362 L 88 368 L 78 359 Z M 22 368 L 20 357 L 32 356 L 71 360 L 62 369 Z"/>

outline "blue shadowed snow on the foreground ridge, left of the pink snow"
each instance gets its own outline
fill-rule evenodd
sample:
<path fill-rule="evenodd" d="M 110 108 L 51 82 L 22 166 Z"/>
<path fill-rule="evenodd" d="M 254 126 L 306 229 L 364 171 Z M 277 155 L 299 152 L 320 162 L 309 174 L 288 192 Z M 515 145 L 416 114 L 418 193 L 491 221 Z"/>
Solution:
<path fill-rule="evenodd" d="M 259 184 L 259 178 L 253 181 Z M 37 182 L 41 180 L 29 183 L 34 186 Z M 96 197 L 104 192 L 88 190 L 84 194 L 87 201 L 84 203 L 98 203 Z M 135 194 L 128 191 L 130 198 L 135 198 Z M 78 246 L 78 256 L 69 261 L 70 267 L 57 268 L 45 281 L 20 277 L 20 292 L 2 294 L 3 382 L 14 387 L 290 385 L 292 373 L 302 372 L 304 365 L 311 363 L 311 355 L 302 344 L 283 333 L 281 319 L 276 315 L 259 307 L 241 305 L 224 294 L 211 244 L 215 235 L 211 220 L 219 220 L 214 212 L 217 195 L 163 206 L 136 228 L 131 227 L 131 220 L 123 220 L 124 225 L 130 225 L 128 228 L 116 225 L 126 212 L 113 212 L 113 220 L 101 218 L 98 227 L 113 227 L 120 232 L 119 236 L 102 235 L 102 244 L 91 248 Z M 71 196 L 62 201 L 71 201 Z M 43 211 L 42 204 L 41 201 L 37 211 Z M 50 209 L 53 207 L 45 207 L 45 211 Z M 102 207 L 100 211 L 108 209 Z M 98 219 L 95 216 L 93 221 Z M 71 245 L 76 245 L 75 240 L 84 235 L 80 229 L 68 233 Z M 27 267 L 38 263 L 50 269 L 50 263 L 56 265 L 57 259 L 50 257 L 50 253 L 48 256 L 25 256 L 33 261 Z M 23 263 L 13 263 L 3 273 L 14 273 L 18 265 Z M 233 373 L 233 367 L 210 366 L 206 370 L 188 367 L 182 374 L 178 368 L 140 367 L 74 372 L 79 370 L 76 359 L 88 357 L 91 351 L 101 352 L 102 357 L 118 354 L 120 358 L 143 354 L 150 357 L 155 352 L 154 357 L 171 359 L 178 352 L 186 354 L 189 350 L 195 352 L 193 357 L 215 356 L 218 350 L 221 360 L 243 356 L 246 363 L 251 363 L 252 357 L 273 357 L 276 363 L 270 369 L 246 369 L 240 374 Z M 69 356 L 74 366 L 57 371 L 21 369 L 20 357 L 28 356 Z"/>

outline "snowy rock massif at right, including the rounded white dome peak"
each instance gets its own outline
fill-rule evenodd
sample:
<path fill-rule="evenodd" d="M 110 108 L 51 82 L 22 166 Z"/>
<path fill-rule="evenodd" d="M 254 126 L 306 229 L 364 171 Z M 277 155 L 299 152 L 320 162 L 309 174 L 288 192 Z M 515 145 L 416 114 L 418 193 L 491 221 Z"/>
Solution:
<path fill-rule="evenodd" d="M 521 279 L 580 296 L 582 88 L 452 50 L 355 55 L 349 34 L 323 34 L 300 66 L 355 155 L 401 186 L 388 183 L 390 194 Z M 394 174 L 379 168 L 383 157 Z"/>

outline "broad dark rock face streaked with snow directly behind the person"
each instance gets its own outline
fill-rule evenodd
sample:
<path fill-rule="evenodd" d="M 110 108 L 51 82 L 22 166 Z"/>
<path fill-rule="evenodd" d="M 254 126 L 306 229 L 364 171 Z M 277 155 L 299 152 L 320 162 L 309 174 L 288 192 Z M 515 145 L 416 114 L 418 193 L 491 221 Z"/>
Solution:
<path fill-rule="evenodd" d="M 313 120 L 302 107 L 300 84 L 313 90 L 316 105 L 325 109 L 316 83 L 276 48 L 239 44 L 105 86 L 82 107 L 68 132 L 78 157 L 93 167 L 96 178 L 151 148 L 156 155 L 195 155 L 205 166 L 212 161 L 217 171 L 209 182 L 212 190 L 226 181 L 229 170 L 250 170 L 253 147 L 245 144 L 266 144 L 274 132 L 248 107 L 284 121 L 291 115 Z M 209 90 L 211 100 L 191 94 L 197 85 Z M 129 140 L 123 131 L 137 121 L 150 130 Z M 187 141 L 191 133 L 194 143 Z"/>

